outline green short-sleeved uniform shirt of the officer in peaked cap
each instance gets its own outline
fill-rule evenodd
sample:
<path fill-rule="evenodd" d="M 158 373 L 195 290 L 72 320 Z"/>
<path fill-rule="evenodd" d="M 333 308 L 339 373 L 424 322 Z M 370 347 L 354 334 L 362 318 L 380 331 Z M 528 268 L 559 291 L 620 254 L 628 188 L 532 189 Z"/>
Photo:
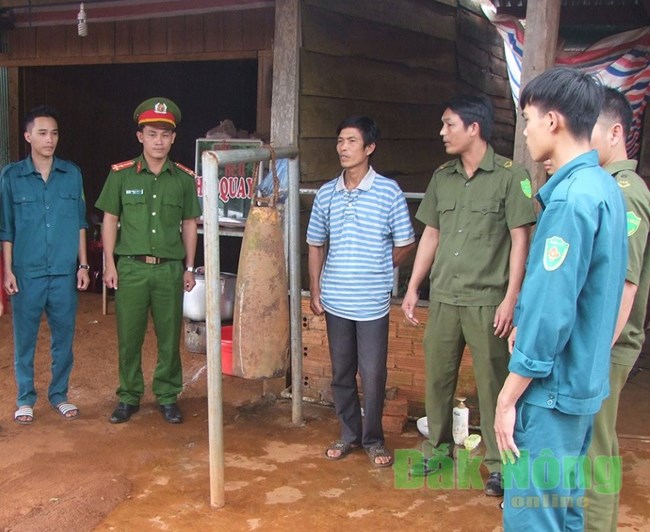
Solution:
<path fill-rule="evenodd" d="M 119 218 L 116 255 L 182 260 L 183 220 L 201 215 L 191 170 L 169 159 L 159 175 L 143 155 L 112 166 L 95 207 Z"/>

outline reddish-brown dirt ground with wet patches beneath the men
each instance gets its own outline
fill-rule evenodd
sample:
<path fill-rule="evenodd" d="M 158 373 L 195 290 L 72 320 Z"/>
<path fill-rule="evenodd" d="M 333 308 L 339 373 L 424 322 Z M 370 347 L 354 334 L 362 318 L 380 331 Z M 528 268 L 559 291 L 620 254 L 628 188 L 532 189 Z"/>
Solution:
<path fill-rule="evenodd" d="M 338 434 L 331 408 L 291 403 L 259 381 L 224 377 L 226 504 L 210 506 L 205 355 L 183 350 L 181 425 L 165 423 L 150 391 L 131 421 L 111 425 L 117 355 L 115 316 L 101 296 L 82 294 L 70 400 L 81 410 L 66 421 L 47 403 L 49 331 L 41 328 L 36 360 L 40 400 L 31 426 L 12 421 L 15 385 L 11 317 L 0 318 L 0 531 L 184 530 L 501 530 L 498 499 L 482 491 L 398 489 L 391 469 L 362 452 L 323 458 Z M 145 346 L 147 383 L 155 342 Z M 276 386 L 277 388 L 277 386 Z M 267 387 L 268 390 L 268 387 Z M 650 368 L 625 388 L 619 423 L 624 457 L 620 530 L 650 529 Z M 393 449 L 417 448 L 409 423 L 388 436 Z"/>

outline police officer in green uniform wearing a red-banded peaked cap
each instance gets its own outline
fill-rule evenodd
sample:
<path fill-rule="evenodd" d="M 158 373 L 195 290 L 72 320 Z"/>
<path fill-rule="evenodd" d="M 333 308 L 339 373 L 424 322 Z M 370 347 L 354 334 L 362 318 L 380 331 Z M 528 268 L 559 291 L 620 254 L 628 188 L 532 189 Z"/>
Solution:
<path fill-rule="evenodd" d="M 133 119 L 143 153 L 111 167 L 95 204 L 104 211 L 104 283 L 116 290 L 120 384 L 119 404 L 110 421 L 128 421 L 140 407 L 142 344 L 151 310 L 158 340 L 152 390 L 165 420 L 181 423 L 176 397 L 183 385 L 183 290 L 189 292 L 195 285 L 201 207 L 194 173 L 168 157 L 181 120 L 178 106 L 166 98 L 151 98 L 136 108 Z"/>

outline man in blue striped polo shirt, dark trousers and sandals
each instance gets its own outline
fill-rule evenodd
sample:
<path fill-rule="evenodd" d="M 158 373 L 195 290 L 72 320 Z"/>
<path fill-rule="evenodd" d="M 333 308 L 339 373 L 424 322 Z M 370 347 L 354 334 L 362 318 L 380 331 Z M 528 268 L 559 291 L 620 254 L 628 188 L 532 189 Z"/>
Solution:
<path fill-rule="evenodd" d="M 373 465 L 387 467 L 393 458 L 384 445 L 381 418 L 393 268 L 413 249 L 415 237 L 399 186 L 370 166 L 379 138 L 375 122 L 350 117 L 339 124 L 337 135 L 343 172 L 316 194 L 307 229 L 311 309 L 325 314 L 341 424 L 341 437 L 325 457 L 340 460 L 362 446 Z"/>

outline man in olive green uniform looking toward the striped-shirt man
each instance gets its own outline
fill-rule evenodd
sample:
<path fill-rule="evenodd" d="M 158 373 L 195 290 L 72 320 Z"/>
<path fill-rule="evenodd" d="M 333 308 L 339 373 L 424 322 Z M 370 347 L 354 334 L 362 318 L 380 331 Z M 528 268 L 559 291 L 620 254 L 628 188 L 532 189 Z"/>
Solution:
<path fill-rule="evenodd" d="M 485 493 L 503 494 L 494 435 L 496 399 L 508 374 L 507 336 L 524 276 L 530 225 L 535 221 L 526 171 L 489 144 L 493 108 L 482 96 L 445 105 L 445 150 L 457 158 L 431 178 L 416 218 L 425 224 L 402 309 L 417 324 L 418 287 L 430 275 L 424 335 L 429 446 L 453 448 L 452 409 L 465 345 L 472 353 L 479 397 Z M 431 449 L 424 448 L 425 458 Z M 415 471 L 414 471 L 415 472 Z M 425 466 L 426 473 L 426 466 Z"/>

